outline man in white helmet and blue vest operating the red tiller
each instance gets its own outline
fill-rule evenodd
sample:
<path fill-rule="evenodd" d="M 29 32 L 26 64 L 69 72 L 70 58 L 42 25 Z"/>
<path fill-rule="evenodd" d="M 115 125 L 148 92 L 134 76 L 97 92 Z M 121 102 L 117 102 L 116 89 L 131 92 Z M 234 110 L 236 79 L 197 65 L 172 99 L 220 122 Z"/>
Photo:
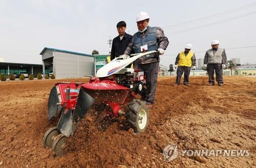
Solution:
<path fill-rule="evenodd" d="M 169 41 L 164 36 L 163 30 L 160 27 L 148 26 L 150 16 L 146 12 L 140 12 L 136 17 L 138 32 L 133 35 L 131 43 L 125 49 L 124 54 L 130 54 L 131 51 L 135 53 L 158 50 L 158 53 L 150 54 L 137 59 L 134 62 L 134 68 L 142 69 L 146 76 L 146 91 L 143 95 L 148 107 L 153 107 L 156 86 L 157 74 L 159 66 L 159 55 L 164 54 Z"/>

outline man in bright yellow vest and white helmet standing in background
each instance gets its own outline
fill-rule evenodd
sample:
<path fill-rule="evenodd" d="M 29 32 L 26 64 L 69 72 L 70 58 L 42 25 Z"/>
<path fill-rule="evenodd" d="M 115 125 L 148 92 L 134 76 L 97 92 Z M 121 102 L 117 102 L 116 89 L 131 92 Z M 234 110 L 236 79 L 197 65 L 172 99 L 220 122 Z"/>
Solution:
<path fill-rule="evenodd" d="M 192 45 L 187 44 L 185 45 L 185 51 L 181 51 L 177 55 L 174 67 L 175 69 L 177 69 L 177 65 L 178 65 L 178 69 L 177 69 L 176 83 L 174 84 L 174 86 L 180 85 L 180 79 L 183 72 L 184 72 L 183 85 L 190 86 L 188 81 L 190 69 L 192 66 L 193 66 L 193 69 L 196 69 L 196 56 L 194 52 L 190 51 L 191 48 L 192 48 Z"/>

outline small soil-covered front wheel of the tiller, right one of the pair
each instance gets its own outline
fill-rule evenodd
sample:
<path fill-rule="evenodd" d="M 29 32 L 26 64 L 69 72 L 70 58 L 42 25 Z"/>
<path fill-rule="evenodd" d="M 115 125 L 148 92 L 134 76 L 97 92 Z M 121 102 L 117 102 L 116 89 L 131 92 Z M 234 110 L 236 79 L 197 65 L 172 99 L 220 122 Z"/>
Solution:
<path fill-rule="evenodd" d="M 57 156 L 65 154 L 66 148 L 66 136 L 62 133 L 58 134 L 53 138 L 52 150 Z"/>

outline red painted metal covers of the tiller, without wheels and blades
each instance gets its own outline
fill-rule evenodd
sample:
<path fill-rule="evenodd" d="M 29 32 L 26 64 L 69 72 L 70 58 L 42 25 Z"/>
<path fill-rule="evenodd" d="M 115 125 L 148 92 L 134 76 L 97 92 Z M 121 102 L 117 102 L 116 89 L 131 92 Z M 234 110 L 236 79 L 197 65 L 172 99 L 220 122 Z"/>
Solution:
<path fill-rule="evenodd" d="M 119 117 L 123 113 L 120 105 L 129 102 L 136 95 L 133 90 L 134 83 L 138 80 L 144 82 L 144 73 L 135 69 L 135 72 L 132 74 L 130 86 L 119 85 L 116 79 L 119 78 L 112 75 L 106 78 L 92 77 L 88 83 L 56 83 L 59 105 L 65 109 L 75 109 L 79 90 L 83 89 L 94 98 L 95 104 L 104 103 L 108 105 L 112 109 L 108 113 L 113 117 Z"/>

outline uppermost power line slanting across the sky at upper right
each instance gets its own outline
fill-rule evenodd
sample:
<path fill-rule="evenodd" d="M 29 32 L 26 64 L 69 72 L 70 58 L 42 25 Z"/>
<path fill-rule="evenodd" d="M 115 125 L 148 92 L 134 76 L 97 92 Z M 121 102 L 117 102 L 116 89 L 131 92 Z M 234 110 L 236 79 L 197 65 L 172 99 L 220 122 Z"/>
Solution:
<path fill-rule="evenodd" d="M 225 12 L 221 12 L 221 13 L 218 13 L 218 14 L 215 14 L 215 15 L 206 16 L 206 17 L 202 17 L 202 18 L 199 18 L 199 19 L 182 22 L 182 23 L 179 23 L 179 24 L 166 26 L 166 27 L 163 27 L 163 29 L 165 29 L 165 30 L 166 29 L 167 30 L 168 29 L 177 29 L 177 27 L 180 27 L 180 26 L 185 26 L 185 25 L 188 25 L 188 24 L 195 24 L 195 23 L 202 22 L 202 21 L 205 21 L 205 20 L 209 20 L 209 19 L 213 19 L 213 18 L 220 17 L 220 16 L 223 16 L 223 15 L 231 14 L 231 13 L 234 13 L 234 12 L 238 12 L 238 11 L 241 11 L 241 10 L 245 10 L 245 9 L 254 7 L 255 5 L 256 5 L 256 3 L 248 4 L 246 6 L 242 6 L 240 8 L 236 8 L 236 9 L 228 10 L 228 11 L 225 11 Z"/>

